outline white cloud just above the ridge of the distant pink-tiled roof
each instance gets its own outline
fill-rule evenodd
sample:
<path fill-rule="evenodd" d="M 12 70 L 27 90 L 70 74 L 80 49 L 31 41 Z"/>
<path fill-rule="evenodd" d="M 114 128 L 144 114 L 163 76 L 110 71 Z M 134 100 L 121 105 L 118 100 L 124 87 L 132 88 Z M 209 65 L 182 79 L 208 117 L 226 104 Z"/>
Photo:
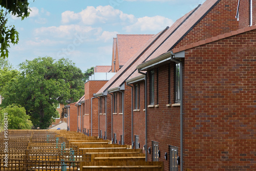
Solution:
<path fill-rule="evenodd" d="M 163 16 L 153 16 L 153 17 L 141 17 L 138 18 L 137 22 L 124 27 L 126 32 L 138 31 L 158 31 L 159 29 L 165 28 L 166 26 L 171 26 L 173 24 L 173 20 L 163 17 Z"/>

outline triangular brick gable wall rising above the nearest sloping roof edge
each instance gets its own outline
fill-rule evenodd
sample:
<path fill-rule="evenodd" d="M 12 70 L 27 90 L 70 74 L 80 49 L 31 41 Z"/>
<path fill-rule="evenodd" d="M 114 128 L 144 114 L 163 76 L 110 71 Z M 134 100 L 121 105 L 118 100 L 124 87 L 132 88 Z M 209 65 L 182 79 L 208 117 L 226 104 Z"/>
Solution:
<path fill-rule="evenodd" d="M 237 6 L 238 0 L 221 0 L 175 48 L 237 30 Z"/>

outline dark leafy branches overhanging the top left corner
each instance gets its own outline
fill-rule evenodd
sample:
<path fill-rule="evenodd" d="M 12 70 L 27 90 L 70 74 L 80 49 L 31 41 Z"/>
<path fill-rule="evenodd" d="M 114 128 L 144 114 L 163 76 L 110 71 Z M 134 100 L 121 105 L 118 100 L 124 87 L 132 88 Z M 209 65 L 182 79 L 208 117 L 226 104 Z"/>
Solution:
<path fill-rule="evenodd" d="M 28 0 L 0 0 L 0 53 L 1 57 L 8 57 L 10 44 L 18 43 L 18 32 L 15 26 L 8 25 L 9 15 L 16 15 L 24 19 L 29 16 Z"/>

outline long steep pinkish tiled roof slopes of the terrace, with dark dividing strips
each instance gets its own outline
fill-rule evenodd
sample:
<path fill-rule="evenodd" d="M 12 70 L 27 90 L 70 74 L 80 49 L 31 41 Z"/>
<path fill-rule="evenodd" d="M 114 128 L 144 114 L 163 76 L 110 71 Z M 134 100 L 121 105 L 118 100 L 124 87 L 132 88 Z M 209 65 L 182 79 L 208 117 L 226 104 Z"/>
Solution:
<path fill-rule="evenodd" d="M 169 50 L 172 50 L 182 38 L 194 28 L 198 22 L 217 4 L 219 0 L 206 1 L 203 5 L 190 11 L 178 19 L 170 28 L 158 33 L 157 39 L 151 39 L 141 48 L 126 64 L 112 77 L 96 94 L 103 93 L 107 89 L 114 89 L 121 86 L 127 78 L 131 79 L 137 74 L 136 67 L 141 63 L 154 59 Z M 202 42 L 200 42 L 202 44 Z M 148 45 L 150 44 L 150 45 Z M 199 42 L 196 42 L 199 45 Z M 196 45 L 195 44 L 195 45 Z M 148 46 L 150 46 L 148 48 Z M 147 49 L 148 48 L 148 49 Z M 143 54 L 142 54 L 143 52 Z M 128 69 L 129 68 L 129 69 Z"/>

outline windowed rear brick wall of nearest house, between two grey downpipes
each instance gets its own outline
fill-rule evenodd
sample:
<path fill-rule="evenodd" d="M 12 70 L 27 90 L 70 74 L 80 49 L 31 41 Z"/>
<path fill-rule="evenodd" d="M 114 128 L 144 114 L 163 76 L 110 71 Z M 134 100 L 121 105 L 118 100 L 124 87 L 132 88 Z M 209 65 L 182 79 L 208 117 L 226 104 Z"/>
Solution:
<path fill-rule="evenodd" d="M 169 72 L 170 71 L 170 72 Z M 159 143 L 161 157 L 159 161 L 164 162 L 164 170 L 169 169 L 169 161 L 164 159 L 165 152 L 168 153 L 169 146 L 180 146 L 180 107 L 166 106 L 168 102 L 168 89 L 174 92 L 174 63 L 167 63 L 154 69 L 154 101 L 157 104 L 157 72 L 158 72 L 158 107 L 147 107 L 147 148 L 151 147 L 152 141 Z M 149 73 L 149 72 L 147 72 Z M 170 88 L 168 86 L 170 79 Z M 150 103 L 150 77 L 147 74 L 147 105 Z M 170 93 L 171 103 L 174 103 L 174 93 Z M 152 154 L 148 154 L 148 161 L 152 161 Z"/>

